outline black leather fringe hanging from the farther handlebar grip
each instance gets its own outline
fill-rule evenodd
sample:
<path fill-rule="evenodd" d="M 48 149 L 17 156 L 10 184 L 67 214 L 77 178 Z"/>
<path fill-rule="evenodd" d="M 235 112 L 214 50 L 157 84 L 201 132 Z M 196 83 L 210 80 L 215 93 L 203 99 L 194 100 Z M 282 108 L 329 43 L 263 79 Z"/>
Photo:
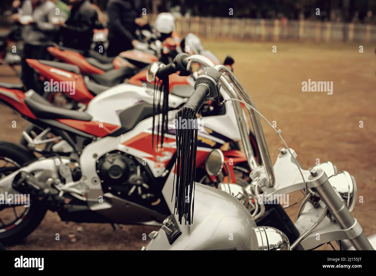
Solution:
<path fill-rule="evenodd" d="M 159 141 L 160 148 L 163 148 L 164 134 L 168 133 L 168 77 L 160 80 L 154 79 L 154 95 L 153 95 L 153 128 L 152 128 L 152 148 L 154 148 L 154 134 L 155 127 L 157 143 L 156 150 L 158 151 Z M 163 100 L 161 103 L 163 93 Z M 160 115 L 162 114 L 162 122 L 160 122 Z"/>

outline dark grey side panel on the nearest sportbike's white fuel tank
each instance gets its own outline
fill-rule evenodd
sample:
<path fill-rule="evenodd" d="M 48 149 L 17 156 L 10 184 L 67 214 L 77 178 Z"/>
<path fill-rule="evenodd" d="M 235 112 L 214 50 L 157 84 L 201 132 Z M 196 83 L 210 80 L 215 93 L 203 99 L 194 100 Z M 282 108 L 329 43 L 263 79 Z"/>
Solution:
<path fill-rule="evenodd" d="M 153 116 L 153 105 L 145 102 L 135 104 L 119 114 L 121 127 L 110 133 L 109 136 L 119 136 L 135 128 L 135 126 Z"/>

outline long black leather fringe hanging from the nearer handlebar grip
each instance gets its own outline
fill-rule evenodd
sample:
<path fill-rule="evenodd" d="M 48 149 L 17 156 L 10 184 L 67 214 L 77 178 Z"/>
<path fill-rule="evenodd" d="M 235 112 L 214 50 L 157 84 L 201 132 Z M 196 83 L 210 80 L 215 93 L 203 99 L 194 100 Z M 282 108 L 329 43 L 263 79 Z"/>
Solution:
<path fill-rule="evenodd" d="M 179 223 L 185 217 L 185 224 L 193 223 L 194 188 L 196 179 L 196 152 L 197 152 L 197 117 L 196 111 L 183 106 L 175 116 L 176 127 L 176 162 L 174 177 L 175 208 L 174 214 L 179 215 Z M 188 124 L 179 125 L 178 122 Z M 194 127 L 189 122 L 194 122 Z M 174 196 L 174 190 L 172 196 Z M 172 201 L 172 198 L 171 198 Z"/>

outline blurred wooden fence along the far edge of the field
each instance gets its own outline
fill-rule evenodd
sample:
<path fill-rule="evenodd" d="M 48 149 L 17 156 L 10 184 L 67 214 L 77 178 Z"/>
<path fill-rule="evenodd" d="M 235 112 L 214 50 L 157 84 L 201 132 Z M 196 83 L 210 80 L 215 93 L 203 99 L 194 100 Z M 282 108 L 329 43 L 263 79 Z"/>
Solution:
<path fill-rule="evenodd" d="M 155 14 L 149 14 L 151 24 L 155 18 Z M 0 16 L 0 28 L 11 26 L 10 17 Z M 206 38 L 376 42 L 376 25 L 370 24 L 191 17 L 177 19 L 176 29 L 181 36 L 194 33 Z"/>

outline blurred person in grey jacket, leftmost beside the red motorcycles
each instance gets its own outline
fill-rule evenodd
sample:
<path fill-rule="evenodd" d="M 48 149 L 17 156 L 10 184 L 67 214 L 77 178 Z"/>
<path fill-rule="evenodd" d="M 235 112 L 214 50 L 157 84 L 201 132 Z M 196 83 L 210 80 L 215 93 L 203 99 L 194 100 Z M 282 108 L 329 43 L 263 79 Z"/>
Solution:
<path fill-rule="evenodd" d="M 33 79 L 33 69 L 26 59 L 50 59 L 47 46 L 59 30 L 62 21 L 56 15 L 56 5 L 51 0 L 31 0 L 33 4 L 32 21 L 24 24 L 22 38 L 24 41 L 23 58 L 21 60 L 21 80 L 26 89 L 37 90 Z M 36 91 L 39 92 L 39 91 Z"/>

